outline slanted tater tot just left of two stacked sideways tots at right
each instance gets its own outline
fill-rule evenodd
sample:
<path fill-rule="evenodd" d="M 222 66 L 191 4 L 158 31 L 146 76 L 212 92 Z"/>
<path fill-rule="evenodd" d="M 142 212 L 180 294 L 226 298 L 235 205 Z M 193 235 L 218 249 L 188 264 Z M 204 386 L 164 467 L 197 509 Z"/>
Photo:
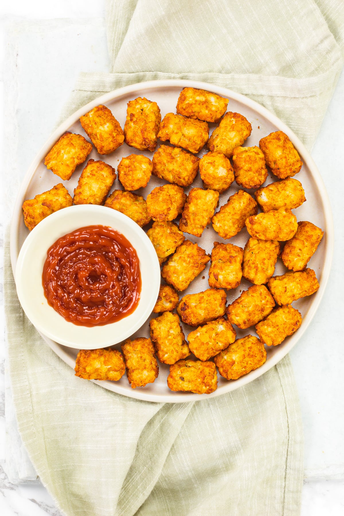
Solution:
<path fill-rule="evenodd" d="M 245 220 L 257 213 L 258 207 L 253 197 L 239 190 L 212 217 L 212 227 L 222 238 L 232 238 L 242 230 Z"/>

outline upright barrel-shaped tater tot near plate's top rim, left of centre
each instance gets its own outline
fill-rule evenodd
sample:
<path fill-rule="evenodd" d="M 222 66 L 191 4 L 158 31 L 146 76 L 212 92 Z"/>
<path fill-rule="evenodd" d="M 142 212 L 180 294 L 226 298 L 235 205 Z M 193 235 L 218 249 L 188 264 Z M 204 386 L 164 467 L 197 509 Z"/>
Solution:
<path fill-rule="evenodd" d="M 125 143 L 140 151 L 154 151 L 160 122 L 160 109 L 156 102 L 145 97 L 130 100 L 124 124 Z"/>

